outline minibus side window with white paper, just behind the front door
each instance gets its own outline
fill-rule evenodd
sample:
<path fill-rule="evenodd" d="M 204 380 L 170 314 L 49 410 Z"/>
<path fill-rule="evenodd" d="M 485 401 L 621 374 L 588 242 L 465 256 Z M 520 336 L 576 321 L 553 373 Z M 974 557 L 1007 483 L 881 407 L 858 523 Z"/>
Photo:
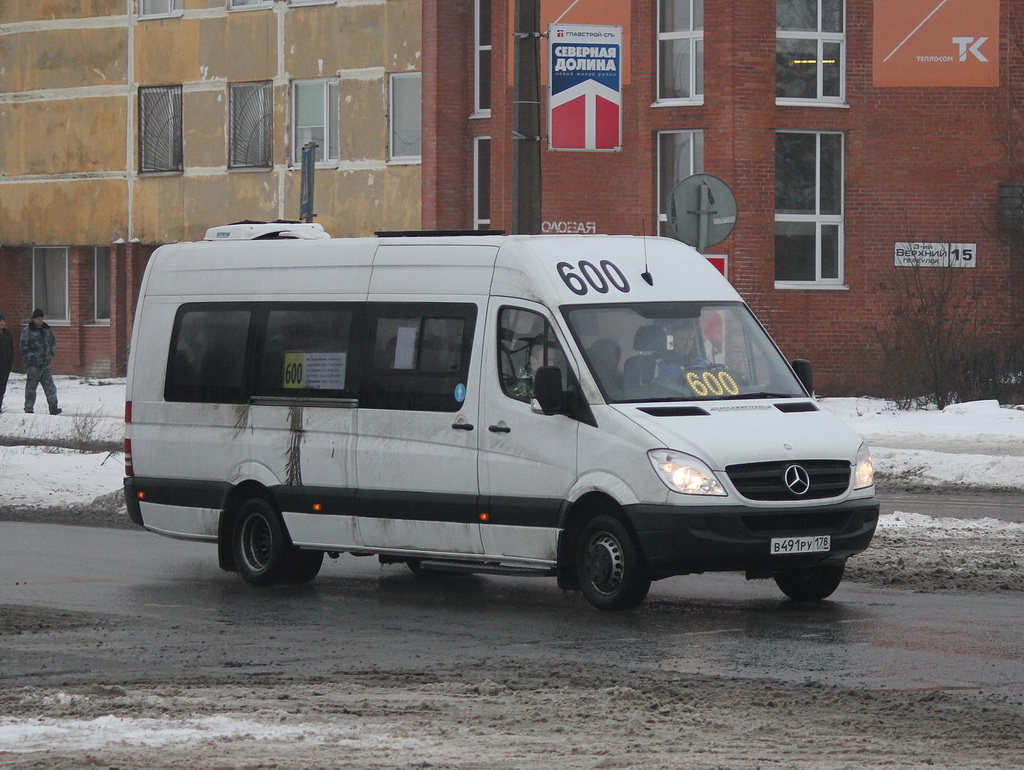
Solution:
<path fill-rule="evenodd" d="M 368 306 L 370 367 L 359 392 L 367 409 L 458 412 L 468 386 L 476 306 Z"/>

